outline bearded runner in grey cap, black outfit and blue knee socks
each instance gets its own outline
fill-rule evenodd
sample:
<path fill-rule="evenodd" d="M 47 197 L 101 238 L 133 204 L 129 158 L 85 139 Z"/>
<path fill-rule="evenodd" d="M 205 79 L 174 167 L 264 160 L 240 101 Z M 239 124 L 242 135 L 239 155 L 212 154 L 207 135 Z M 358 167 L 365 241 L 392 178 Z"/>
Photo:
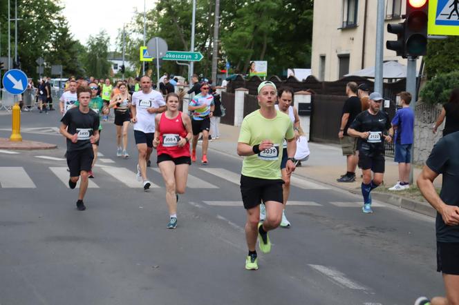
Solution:
<path fill-rule="evenodd" d="M 364 213 L 373 213 L 371 209 L 371 190 L 377 188 L 384 179 L 384 141 L 391 143 L 393 130 L 391 121 L 381 110 L 383 97 L 378 92 L 369 97 L 370 108 L 361 112 L 348 129 L 348 135 L 359 138 L 359 167 L 362 168 L 362 195 Z M 371 172 L 373 171 L 373 179 Z"/>

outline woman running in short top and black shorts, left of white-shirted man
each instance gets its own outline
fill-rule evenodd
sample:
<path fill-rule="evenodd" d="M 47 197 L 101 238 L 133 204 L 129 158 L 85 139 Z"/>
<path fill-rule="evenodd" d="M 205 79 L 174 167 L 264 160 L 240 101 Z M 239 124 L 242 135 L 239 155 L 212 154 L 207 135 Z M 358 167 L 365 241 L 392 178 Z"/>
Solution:
<path fill-rule="evenodd" d="M 125 83 L 121 83 L 119 88 L 120 93 L 113 95 L 109 107 L 115 107 L 115 125 L 116 125 L 116 150 L 117 157 L 128 158 L 127 153 L 127 128 L 131 121 L 129 108 L 131 107 L 131 95 L 127 92 Z M 122 147 L 121 147 L 122 137 Z"/>

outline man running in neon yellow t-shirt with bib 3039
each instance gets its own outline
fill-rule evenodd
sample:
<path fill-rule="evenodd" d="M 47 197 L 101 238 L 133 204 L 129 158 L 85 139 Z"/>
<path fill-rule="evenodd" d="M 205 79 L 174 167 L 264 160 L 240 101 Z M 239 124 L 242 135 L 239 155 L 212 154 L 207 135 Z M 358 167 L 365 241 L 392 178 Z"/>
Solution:
<path fill-rule="evenodd" d="M 260 109 L 247 115 L 242 122 L 237 153 L 244 157 L 241 171 L 241 195 L 247 213 L 245 239 L 249 254 L 245 259 L 247 270 L 258 269 L 256 239 L 261 252 L 269 253 L 271 242 L 268 231 L 281 224 L 283 211 L 283 180 L 281 159 L 283 139 L 287 140 L 288 159 L 285 164 L 288 175 L 295 169 L 293 124 L 288 115 L 274 108 L 277 88 L 271 81 L 263 81 L 257 96 Z M 260 204 L 264 202 L 266 218 L 260 222 Z"/>

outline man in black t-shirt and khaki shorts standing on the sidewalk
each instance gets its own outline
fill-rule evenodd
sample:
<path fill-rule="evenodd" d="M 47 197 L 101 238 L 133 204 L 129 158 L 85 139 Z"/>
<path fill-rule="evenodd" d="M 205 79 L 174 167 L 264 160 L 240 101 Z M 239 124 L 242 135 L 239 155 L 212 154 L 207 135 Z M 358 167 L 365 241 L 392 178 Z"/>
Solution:
<path fill-rule="evenodd" d="M 339 141 L 343 155 L 346 156 L 347 171 L 337 179 L 338 182 L 353 182 L 355 181 L 355 168 L 359 157 L 357 156 L 357 139 L 348 135 L 348 128 L 354 121 L 355 117 L 362 112 L 360 99 L 357 97 L 357 83 L 350 81 L 346 85 L 346 95 L 348 99 L 344 102 L 343 115 L 341 116 L 341 125 L 338 132 Z"/>

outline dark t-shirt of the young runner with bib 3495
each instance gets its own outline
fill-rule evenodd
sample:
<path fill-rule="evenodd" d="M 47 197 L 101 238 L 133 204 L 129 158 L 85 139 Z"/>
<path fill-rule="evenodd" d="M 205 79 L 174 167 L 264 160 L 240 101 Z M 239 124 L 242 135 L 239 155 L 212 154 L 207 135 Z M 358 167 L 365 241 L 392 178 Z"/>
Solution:
<path fill-rule="evenodd" d="M 99 115 L 89 110 L 88 113 L 79 111 L 79 107 L 71 108 L 61 119 L 62 123 L 67 126 L 67 131 L 71 135 L 78 134 L 77 143 L 72 143 L 67 139 L 67 151 L 82 150 L 92 148 L 89 137 L 99 129 Z"/>

